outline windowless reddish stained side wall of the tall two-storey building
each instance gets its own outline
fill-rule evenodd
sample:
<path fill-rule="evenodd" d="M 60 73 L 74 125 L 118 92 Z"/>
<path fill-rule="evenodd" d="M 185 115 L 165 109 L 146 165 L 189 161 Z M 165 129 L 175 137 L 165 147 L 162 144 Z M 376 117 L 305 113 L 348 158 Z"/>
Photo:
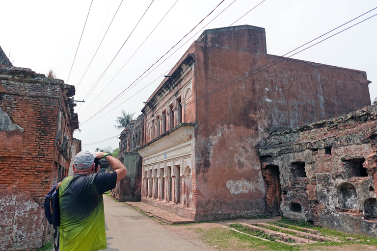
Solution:
<path fill-rule="evenodd" d="M 217 35 L 221 30 L 204 31 L 191 54 L 196 99 L 234 83 L 194 103 L 198 220 L 266 212 L 257 148 L 269 131 L 370 104 L 365 72 L 286 59 L 256 73 L 278 58 L 267 54 L 265 30 L 242 25 Z"/>

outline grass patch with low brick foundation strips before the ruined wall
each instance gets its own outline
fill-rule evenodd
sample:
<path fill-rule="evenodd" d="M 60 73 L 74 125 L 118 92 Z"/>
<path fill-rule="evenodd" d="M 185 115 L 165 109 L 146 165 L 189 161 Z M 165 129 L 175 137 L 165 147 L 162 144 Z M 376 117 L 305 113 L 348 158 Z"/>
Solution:
<path fill-rule="evenodd" d="M 242 234 L 240 232 L 235 232 L 231 230 L 227 230 L 225 228 L 213 228 L 213 229 L 202 229 L 202 228 L 195 228 L 192 226 L 188 229 L 193 229 L 196 234 L 198 234 L 200 239 L 205 243 L 209 244 L 212 247 L 215 247 L 218 250 L 238 250 L 238 251 L 246 251 L 246 250 L 276 250 L 276 251 L 299 251 L 299 250 L 329 250 L 329 246 L 337 246 L 342 247 L 341 249 L 345 250 L 363 250 L 365 247 L 362 245 L 373 245 L 377 246 L 377 237 L 368 237 L 363 235 L 357 234 L 346 234 L 342 232 L 338 232 L 335 230 L 330 230 L 328 228 L 321 228 L 318 226 L 313 226 L 307 222 L 294 222 L 288 219 L 283 218 L 282 220 L 269 223 L 270 226 L 260 226 L 264 227 L 273 231 L 282 232 L 286 234 L 296 235 L 294 232 L 289 230 L 281 230 L 275 226 L 282 226 L 285 228 L 295 229 L 298 231 L 303 231 L 299 227 L 311 228 L 319 231 L 321 235 L 336 238 L 342 240 L 343 242 L 318 242 L 316 244 L 303 244 L 303 245 L 289 245 L 282 242 L 277 242 L 279 237 L 270 236 L 268 233 L 261 231 L 259 229 L 253 229 L 248 226 L 244 226 L 239 223 L 231 224 L 230 227 L 237 229 L 241 232 L 258 236 L 264 239 L 268 239 L 270 241 L 265 241 L 259 238 L 252 237 L 250 235 Z M 283 224 L 289 224 L 291 226 L 286 226 Z M 256 225 L 258 226 L 258 225 Z M 351 238 L 350 238 L 351 237 Z M 285 237 L 283 237 L 285 238 Z M 282 239 L 281 239 L 282 240 Z M 288 242 L 294 242 L 292 239 L 288 238 Z"/>

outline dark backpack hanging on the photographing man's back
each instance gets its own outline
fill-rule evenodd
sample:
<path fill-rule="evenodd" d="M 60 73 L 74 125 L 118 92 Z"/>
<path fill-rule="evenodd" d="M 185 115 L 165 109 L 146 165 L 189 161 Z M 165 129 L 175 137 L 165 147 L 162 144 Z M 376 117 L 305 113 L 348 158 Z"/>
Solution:
<path fill-rule="evenodd" d="M 53 189 L 46 195 L 45 198 L 45 216 L 49 224 L 54 226 L 54 248 L 59 250 L 60 234 L 57 227 L 60 226 L 60 206 L 59 206 L 59 187 L 60 183 L 54 185 Z M 55 242 L 57 236 L 57 243 Z"/>

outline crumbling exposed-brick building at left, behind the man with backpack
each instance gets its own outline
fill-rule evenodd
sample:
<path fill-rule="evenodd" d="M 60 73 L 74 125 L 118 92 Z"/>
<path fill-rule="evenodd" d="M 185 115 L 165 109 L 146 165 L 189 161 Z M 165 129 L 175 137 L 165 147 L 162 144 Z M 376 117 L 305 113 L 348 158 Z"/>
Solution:
<path fill-rule="evenodd" d="M 43 201 L 68 175 L 74 94 L 62 80 L 0 66 L 0 250 L 37 249 L 51 236 Z"/>

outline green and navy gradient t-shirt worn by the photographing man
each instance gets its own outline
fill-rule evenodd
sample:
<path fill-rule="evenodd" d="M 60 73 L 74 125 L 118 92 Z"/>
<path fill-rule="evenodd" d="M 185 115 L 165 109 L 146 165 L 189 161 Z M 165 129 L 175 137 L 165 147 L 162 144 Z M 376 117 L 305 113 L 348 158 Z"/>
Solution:
<path fill-rule="evenodd" d="M 115 188 L 116 172 L 66 177 L 59 188 L 60 251 L 107 248 L 102 194 Z"/>

